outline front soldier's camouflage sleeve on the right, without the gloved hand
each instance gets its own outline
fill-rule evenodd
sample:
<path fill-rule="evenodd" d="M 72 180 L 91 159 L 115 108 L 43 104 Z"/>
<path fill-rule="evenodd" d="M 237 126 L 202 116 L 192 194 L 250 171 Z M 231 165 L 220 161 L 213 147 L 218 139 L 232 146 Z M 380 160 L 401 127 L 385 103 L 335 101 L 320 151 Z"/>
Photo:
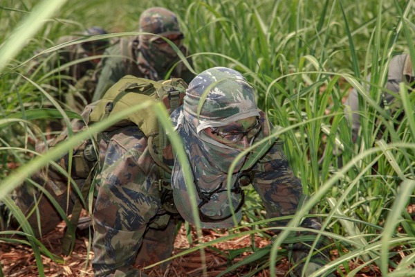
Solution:
<path fill-rule="evenodd" d="M 294 215 L 302 196 L 302 184 L 288 166 L 282 145 L 275 143 L 253 170 L 259 170 L 252 185 L 262 199 L 267 218 Z M 287 222 L 278 220 L 270 225 L 284 226 Z"/>

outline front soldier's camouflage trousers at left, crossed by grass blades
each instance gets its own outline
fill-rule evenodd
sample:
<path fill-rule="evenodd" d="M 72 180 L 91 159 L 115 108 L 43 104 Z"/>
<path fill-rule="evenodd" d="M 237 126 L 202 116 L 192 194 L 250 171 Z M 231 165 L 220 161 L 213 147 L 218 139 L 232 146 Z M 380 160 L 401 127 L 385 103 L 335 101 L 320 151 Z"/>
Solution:
<path fill-rule="evenodd" d="M 81 132 L 82 129 L 86 127 L 85 123 L 89 123 L 89 114 L 94 107 L 94 103 L 85 107 L 81 114 L 83 120 L 75 119 L 71 121 L 71 129 L 73 134 Z M 46 152 L 46 145 L 48 148 L 53 148 L 61 141 L 64 141 L 67 137 L 68 129 L 65 129 L 55 139 L 37 143 L 36 152 Z M 73 148 L 71 177 L 80 190 L 82 190 L 86 182 L 89 170 L 91 170 L 93 163 L 95 163 L 93 161 L 85 161 L 83 158 L 83 152 L 80 152 L 83 150 L 82 147 L 84 147 L 86 143 L 87 141 L 83 141 L 80 145 Z M 107 142 L 102 139 L 99 147 L 100 158 L 98 161 L 103 161 L 107 150 Z M 59 166 L 62 166 L 66 172 L 68 172 L 68 154 L 62 157 L 62 159 L 59 159 L 57 163 Z M 86 163 L 88 163 L 88 165 L 86 165 Z M 68 190 L 68 178 L 62 175 L 53 166 L 42 168 L 42 170 L 39 170 L 33 174 L 30 179 L 31 181 L 25 181 L 24 184 L 17 187 L 11 197 L 15 204 L 20 208 L 21 212 L 27 216 L 28 223 L 32 227 L 35 236 L 40 238 L 42 235 L 54 230 L 57 224 L 62 222 L 62 217 L 59 215 L 53 202 L 51 202 L 50 199 L 48 199 L 48 197 L 46 197 L 46 195 L 39 190 L 39 188 L 33 185 L 32 182 L 42 186 L 48 193 L 50 193 L 60 208 L 62 208 L 66 216 L 71 215 L 74 204 L 79 198 L 79 195 L 75 193 L 73 188 Z M 15 217 L 13 217 L 6 208 L 4 208 L 5 211 L 1 211 L 2 206 L 3 204 L 0 202 L 0 221 L 4 221 L 3 226 L 0 226 L 0 230 L 19 229 L 19 222 L 17 222 Z M 35 212 L 35 208 L 39 211 L 39 217 Z"/>

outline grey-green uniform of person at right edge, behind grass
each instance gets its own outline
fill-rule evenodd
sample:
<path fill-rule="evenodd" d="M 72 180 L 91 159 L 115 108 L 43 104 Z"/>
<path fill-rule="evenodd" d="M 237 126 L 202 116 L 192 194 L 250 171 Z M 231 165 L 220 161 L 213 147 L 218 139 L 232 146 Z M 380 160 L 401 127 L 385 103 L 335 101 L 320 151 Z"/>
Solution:
<path fill-rule="evenodd" d="M 369 75 L 367 77 L 367 81 L 370 82 L 370 79 L 371 76 Z M 400 82 L 407 82 L 408 84 L 414 82 L 412 63 L 410 61 L 409 55 L 407 54 L 396 55 L 391 58 L 385 87 L 387 90 L 392 91 L 393 93 L 398 93 Z M 369 87 L 367 87 L 367 90 L 369 91 Z M 387 105 L 391 105 L 392 102 L 394 102 L 395 97 L 387 91 L 382 91 L 382 97 L 380 99 L 382 105 L 384 105 L 383 103 L 385 102 Z M 344 105 L 348 106 L 345 109 L 346 113 L 349 113 L 348 109 L 350 109 L 352 112 L 352 134 L 353 141 L 356 141 L 360 129 L 359 96 L 356 89 L 352 89 Z"/>

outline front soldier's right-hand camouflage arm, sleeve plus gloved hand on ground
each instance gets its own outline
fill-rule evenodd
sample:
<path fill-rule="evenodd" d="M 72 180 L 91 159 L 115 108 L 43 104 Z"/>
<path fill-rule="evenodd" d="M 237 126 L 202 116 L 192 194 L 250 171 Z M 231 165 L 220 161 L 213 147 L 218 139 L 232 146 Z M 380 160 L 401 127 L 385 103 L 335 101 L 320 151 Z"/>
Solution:
<path fill-rule="evenodd" d="M 306 201 L 306 197 L 302 193 L 301 182 L 293 175 L 293 170 L 288 166 L 288 161 L 282 150 L 282 144 L 279 142 L 275 143 L 273 148 L 270 149 L 264 159 L 261 159 L 259 163 L 263 170 L 255 175 L 253 185 L 264 203 L 267 218 L 294 215 L 297 208 L 302 206 L 303 202 Z M 288 222 L 289 220 L 275 220 L 270 222 L 269 225 L 285 226 Z M 320 230 L 320 218 L 306 217 L 302 220 L 301 226 L 308 229 Z M 279 232 L 275 231 L 275 233 Z M 310 253 L 310 245 L 317 238 L 313 231 L 295 232 L 291 233 L 291 236 L 307 239 L 305 243 L 297 242 L 284 245 L 288 250 L 288 259 L 292 265 L 295 265 L 295 276 L 302 276 L 303 260 Z M 316 244 L 316 249 L 319 249 L 319 251 L 311 257 L 311 264 L 321 267 L 330 261 L 329 248 L 326 247 L 328 244 L 329 241 L 324 237 L 319 238 Z M 305 276 L 310 275 L 313 271 L 315 271 L 313 267 L 307 268 Z"/>

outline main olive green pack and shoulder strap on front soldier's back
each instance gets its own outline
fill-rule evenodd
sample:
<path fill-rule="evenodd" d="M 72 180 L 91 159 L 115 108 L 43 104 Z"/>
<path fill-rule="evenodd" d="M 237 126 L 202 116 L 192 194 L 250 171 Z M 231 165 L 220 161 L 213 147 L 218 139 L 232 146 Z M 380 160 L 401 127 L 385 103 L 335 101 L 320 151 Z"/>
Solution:
<path fill-rule="evenodd" d="M 95 106 L 89 116 L 90 124 L 99 122 L 110 114 L 124 111 L 147 100 L 163 102 L 167 111 L 171 113 L 178 106 L 182 105 L 186 89 L 187 84 L 180 78 L 154 81 L 126 75 L 116 82 Z M 165 173 L 171 172 L 171 169 L 162 162 L 163 149 L 167 146 L 167 138 L 164 128 L 158 125 L 157 116 L 151 110 L 151 107 L 129 114 L 127 118 L 109 127 L 106 131 L 109 132 L 127 125 L 137 125 L 145 136 L 149 138 L 151 157 L 160 169 L 163 169 L 160 170 L 162 179 L 169 178 Z"/>

